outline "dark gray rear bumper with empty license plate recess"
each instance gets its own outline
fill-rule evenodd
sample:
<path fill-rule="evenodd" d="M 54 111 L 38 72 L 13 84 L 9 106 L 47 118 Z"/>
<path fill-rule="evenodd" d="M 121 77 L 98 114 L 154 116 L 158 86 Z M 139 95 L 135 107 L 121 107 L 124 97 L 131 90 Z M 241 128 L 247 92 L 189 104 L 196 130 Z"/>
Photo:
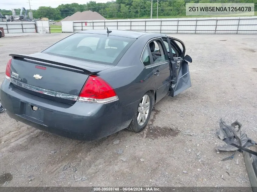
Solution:
<path fill-rule="evenodd" d="M 107 104 L 60 103 L 23 92 L 6 79 L 2 83 L 0 96 L 11 118 L 40 130 L 78 140 L 97 140 L 126 128 L 136 109 L 135 103 L 123 107 L 119 101 Z M 43 110 L 43 115 L 40 118 L 27 116 L 25 108 L 29 105 Z"/>

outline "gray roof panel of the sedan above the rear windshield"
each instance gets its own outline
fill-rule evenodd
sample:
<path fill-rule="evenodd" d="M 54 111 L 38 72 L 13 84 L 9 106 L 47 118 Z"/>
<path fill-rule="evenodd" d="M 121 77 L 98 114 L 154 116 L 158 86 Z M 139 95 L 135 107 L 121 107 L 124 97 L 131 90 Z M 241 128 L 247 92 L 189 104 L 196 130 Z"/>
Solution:
<path fill-rule="evenodd" d="M 146 34 L 153 34 L 149 32 L 115 30 L 115 29 L 109 29 L 109 31 L 112 31 L 111 33 L 109 33 L 110 36 L 120 36 L 120 37 L 132 38 L 132 39 L 137 39 L 140 36 L 146 35 Z M 107 29 L 92 29 L 92 30 L 80 31 L 78 33 L 92 33 L 92 34 L 107 35 Z"/>

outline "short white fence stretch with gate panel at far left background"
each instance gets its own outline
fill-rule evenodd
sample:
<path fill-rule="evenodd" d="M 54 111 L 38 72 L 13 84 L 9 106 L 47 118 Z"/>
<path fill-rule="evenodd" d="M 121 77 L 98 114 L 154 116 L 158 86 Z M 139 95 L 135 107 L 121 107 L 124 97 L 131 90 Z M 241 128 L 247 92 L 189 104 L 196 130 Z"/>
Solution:
<path fill-rule="evenodd" d="M 7 33 L 50 33 L 49 21 L 36 22 L 0 22 L 0 27 Z"/>

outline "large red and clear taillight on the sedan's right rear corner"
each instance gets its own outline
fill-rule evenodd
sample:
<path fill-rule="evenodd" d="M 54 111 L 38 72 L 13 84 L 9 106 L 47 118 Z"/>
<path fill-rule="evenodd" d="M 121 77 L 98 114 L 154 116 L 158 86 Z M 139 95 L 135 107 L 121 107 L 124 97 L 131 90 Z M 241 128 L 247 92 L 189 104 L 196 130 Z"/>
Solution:
<path fill-rule="evenodd" d="M 102 78 L 91 75 L 78 96 L 78 101 L 107 103 L 118 100 L 114 89 Z"/>

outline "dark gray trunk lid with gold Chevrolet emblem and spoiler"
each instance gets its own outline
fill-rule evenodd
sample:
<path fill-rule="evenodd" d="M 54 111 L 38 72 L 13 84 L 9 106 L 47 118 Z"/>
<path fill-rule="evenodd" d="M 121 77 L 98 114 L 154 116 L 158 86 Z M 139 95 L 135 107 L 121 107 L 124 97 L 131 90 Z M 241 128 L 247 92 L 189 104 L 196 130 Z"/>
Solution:
<path fill-rule="evenodd" d="M 44 53 L 10 56 L 13 57 L 10 81 L 17 88 L 71 104 L 77 100 L 89 75 L 113 67 Z"/>

